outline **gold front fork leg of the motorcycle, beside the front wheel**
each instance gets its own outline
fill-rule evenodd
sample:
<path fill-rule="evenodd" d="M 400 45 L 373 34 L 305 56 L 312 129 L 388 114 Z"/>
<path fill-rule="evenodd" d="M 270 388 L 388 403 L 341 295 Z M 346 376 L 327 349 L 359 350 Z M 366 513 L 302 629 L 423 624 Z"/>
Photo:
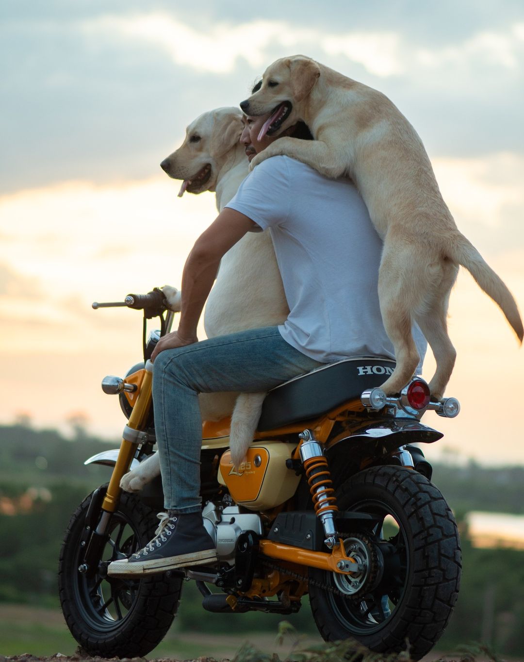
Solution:
<path fill-rule="evenodd" d="M 104 546 L 109 538 L 109 522 L 120 500 L 120 493 L 122 492 L 120 481 L 122 476 L 129 471 L 137 444 L 142 442 L 143 432 L 141 430 L 144 430 L 146 426 L 151 408 L 152 383 L 153 363 L 146 361 L 146 372 L 140 385 L 140 392 L 132 408 L 128 424 L 124 428 L 118 458 L 101 504 L 101 517 L 98 520 L 97 528 L 89 537 L 89 544 L 87 544 L 83 562 L 79 566 L 79 572 L 81 573 L 91 574 L 97 571 Z M 88 523 L 86 524 L 87 527 L 89 527 Z"/>

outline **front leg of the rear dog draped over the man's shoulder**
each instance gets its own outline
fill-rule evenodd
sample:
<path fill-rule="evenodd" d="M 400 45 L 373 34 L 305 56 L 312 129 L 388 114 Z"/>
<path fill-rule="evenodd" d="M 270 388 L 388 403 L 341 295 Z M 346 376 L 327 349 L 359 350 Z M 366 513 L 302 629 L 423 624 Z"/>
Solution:
<path fill-rule="evenodd" d="M 290 156 L 320 172 L 321 175 L 335 179 L 347 171 L 347 155 L 321 140 L 298 140 L 298 138 L 279 138 L 257 154 L 249 164 L 252 170 L 271 156 Z"/>

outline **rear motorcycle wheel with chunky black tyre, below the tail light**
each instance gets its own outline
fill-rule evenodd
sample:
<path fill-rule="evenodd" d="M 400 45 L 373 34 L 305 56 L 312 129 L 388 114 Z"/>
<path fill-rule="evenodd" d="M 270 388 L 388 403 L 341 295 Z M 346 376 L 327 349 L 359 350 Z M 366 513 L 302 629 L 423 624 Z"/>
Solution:
<path fill-rule="evenodd" d="M 313 618 L 326 641 L 354 638 L 378 653 L 410 649 L 423 657 L 443 634 L 460 585 L 460 541 L 453 513 L 424 476 L 372 467 L 337 491 L 339 510 L 371 514 L 376 525 L 345 545 L 361 576 L 310 570 Z"/>

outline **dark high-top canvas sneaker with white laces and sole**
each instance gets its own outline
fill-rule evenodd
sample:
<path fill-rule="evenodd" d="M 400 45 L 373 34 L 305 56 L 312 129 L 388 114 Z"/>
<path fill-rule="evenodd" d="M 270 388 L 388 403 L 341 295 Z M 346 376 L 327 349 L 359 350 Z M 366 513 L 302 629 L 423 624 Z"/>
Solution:
<path fill-rule="evenodd" d="M 217 560 L 215 545 L 204 528 L 200 512 L 173 517 L 159 512 L 157 517 L 160 524 L 155 538 L 128 559 L 110 563 L 109 577 L 153 575 Z"/>

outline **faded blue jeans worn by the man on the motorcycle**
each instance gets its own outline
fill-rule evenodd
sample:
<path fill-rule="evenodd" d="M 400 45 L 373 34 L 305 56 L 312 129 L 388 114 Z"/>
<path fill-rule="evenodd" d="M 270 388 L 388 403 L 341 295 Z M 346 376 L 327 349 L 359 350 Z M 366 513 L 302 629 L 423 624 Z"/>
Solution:
<path fill-rule="evenodd" d="M 153 369 L 153 406 L 165 508 L 201 508 L 198 393 L 267 391 L 320 365 L 290 346 L 277 326 L 161 352 Z"/>

